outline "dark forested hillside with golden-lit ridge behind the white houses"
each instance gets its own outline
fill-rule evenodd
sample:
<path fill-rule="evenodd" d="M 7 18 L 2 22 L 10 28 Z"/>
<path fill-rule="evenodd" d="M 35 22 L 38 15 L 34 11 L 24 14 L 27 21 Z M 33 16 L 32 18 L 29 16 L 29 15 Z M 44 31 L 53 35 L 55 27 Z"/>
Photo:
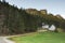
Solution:
<path fill-rule="evenodd" d="M 65 19 L 60 15 L 48 14 L 47 10 L 18 9 L 0 1 L 0 34 L 34 32 L 42 23 L 65 30 Z"/>

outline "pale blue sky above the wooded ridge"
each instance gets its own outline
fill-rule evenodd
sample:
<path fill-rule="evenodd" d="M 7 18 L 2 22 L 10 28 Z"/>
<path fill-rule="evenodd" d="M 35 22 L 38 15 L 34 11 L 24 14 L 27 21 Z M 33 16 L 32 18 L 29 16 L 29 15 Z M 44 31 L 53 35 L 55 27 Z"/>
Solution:
<path fill-rule="evenodd" d="M 48 13 L 60 14 L 65 18 L 65 0 L 5 0 L 23 9 L 48 10 Z"/>

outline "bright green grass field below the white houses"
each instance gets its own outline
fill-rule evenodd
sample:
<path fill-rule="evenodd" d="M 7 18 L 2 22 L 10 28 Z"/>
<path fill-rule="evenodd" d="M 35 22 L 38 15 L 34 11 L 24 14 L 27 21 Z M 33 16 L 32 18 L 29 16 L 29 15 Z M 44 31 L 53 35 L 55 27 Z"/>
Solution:
<path fill-rule="evenodd" d="M 16 43 L 65 43 L 65 33 L 38 32 L 11 39 Z"/>

